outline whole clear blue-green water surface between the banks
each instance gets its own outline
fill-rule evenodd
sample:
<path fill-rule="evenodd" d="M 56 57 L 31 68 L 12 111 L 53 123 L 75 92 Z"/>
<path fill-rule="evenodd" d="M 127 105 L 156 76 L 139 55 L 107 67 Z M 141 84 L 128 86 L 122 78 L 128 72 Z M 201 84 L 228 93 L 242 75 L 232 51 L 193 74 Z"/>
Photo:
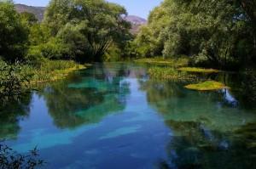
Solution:
<path fill-rule="evenodd" d="M 146 69 L 93 65 L 42 87 L 0 110 L 0 138 L 20 153 L 38 146 L 52 169 L 256 168 L 246 91 L 190 91 Z"/>

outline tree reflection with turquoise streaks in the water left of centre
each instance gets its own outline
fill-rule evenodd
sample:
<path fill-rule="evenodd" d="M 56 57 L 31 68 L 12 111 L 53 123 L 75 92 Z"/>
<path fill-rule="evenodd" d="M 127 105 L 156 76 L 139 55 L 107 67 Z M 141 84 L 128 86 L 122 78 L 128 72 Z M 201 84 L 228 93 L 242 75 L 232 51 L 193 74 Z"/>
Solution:
<path fill-rule="evenodd" d="M 96 65 L 87 71 L 89 76 L 81 76 L 83 72 L 78 72 L 72 77 L 75 82 L 58 82 L 44 90 L 42 94 L 55 126 L 79 127 L 124 110 L 129 83 L 123 82 L 123 78 L 129 76 L 129 72 L 121 68 L 110 70 L 104 65 Z"/>

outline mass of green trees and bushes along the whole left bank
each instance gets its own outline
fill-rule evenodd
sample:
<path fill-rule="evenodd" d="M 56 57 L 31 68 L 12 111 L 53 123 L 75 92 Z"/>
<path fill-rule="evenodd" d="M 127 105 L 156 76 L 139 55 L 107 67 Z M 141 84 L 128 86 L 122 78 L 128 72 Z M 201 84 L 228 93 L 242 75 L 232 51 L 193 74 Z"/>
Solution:
<path fill-rule="evenodd" d="M 42 23 L 0 1 L 0 57 L 40 64 L 44 59 L 102 61 L 131 39 L 125 8 L 104 0 L 51 0 Z"/>

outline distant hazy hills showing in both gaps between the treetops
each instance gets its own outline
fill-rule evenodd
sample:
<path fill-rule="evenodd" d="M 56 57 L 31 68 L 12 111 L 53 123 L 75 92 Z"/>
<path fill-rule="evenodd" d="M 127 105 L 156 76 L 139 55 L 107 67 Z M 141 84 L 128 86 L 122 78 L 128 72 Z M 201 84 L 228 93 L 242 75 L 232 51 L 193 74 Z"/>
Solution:
<path fill-rule="evenodd" d="M 24 4 L 15 4 L 15 8 L 19 13 L 29 12 L 35 14 L 39 22 L 41 22 L 44 19 L 45 7 L 33 7 Z M 141 25 L 147 24 L 147 20 L 135 15 L 128 15 L 125 17 L 125 20 L 131 22 L 131 33 L 133 34 L 136 34 L 139 31 L 139 27 Z"/>

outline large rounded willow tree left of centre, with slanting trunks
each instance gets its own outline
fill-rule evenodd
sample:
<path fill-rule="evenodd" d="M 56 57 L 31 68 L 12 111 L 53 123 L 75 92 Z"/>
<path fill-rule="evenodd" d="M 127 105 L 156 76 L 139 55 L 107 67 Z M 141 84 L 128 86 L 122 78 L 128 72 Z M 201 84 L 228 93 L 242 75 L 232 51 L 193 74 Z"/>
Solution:
<path fill-rule="evenodd" d="M 52 0 L 44 24 L 70 47 L 75 59 L 102 61 L 111 45 L 129 35 L 131 25 L 125 15 L 125 8 L 104 0 Z"/>

